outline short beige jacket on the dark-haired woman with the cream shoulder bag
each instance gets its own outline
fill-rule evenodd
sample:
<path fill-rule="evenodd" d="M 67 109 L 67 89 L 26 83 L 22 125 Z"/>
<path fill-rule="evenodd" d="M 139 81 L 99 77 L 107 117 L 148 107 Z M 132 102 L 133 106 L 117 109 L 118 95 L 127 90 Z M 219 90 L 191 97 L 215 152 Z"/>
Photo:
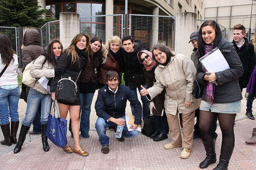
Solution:
<path fill-rule="evenodd" d="M 46 78 L 54 77 L 54 66 L 49 64 L 48 61 L 46 61 L 44 63 L 44 60 L 45 60 L 44 55 L 40 55 L 36 59 L 34 65 L 31 67 L 30 72 L 29 72 L 32 77 L 35 77 L 35 78 L 41 78 L 43 76 L 45 76 Z M 43 63 L 44 63 L 44 65 L 42 67 Z M 36 83 L 32 87 L 32 89 L 35 89 L 44 94 L 48 94 L 48 91 L 46 89 L 44 89 L 44 87 L 38 81 L 36 81 Z"/>

